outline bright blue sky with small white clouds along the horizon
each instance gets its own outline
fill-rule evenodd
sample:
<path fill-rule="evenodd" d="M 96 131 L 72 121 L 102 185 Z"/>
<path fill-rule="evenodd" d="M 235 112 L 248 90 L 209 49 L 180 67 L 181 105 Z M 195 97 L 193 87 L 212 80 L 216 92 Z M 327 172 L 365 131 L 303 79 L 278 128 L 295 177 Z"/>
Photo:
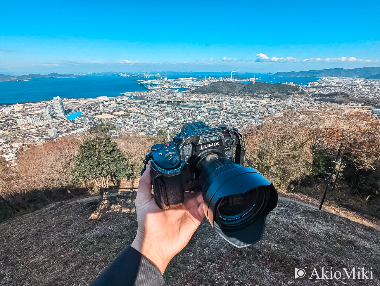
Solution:
<path fill-rule="evenodd" d="M 380 66 L 374 0 L 1 1 L 0 11 L 0 73 Z"/>

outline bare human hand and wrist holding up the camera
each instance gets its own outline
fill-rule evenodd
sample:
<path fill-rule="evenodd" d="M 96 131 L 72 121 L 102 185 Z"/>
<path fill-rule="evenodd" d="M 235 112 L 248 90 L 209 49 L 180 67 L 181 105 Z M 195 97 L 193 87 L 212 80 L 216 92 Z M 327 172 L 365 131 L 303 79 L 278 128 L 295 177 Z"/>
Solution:
<path fill-rule="evenodd" d="M 202 193 L 185 193 L 179 207 L 162 210 L 152 198 L 150 164 L 140 178 L 136 196 L 137 234 L 131 244 L 164 273 L 169 261 L 181 251 L 204 218 Z"/>

